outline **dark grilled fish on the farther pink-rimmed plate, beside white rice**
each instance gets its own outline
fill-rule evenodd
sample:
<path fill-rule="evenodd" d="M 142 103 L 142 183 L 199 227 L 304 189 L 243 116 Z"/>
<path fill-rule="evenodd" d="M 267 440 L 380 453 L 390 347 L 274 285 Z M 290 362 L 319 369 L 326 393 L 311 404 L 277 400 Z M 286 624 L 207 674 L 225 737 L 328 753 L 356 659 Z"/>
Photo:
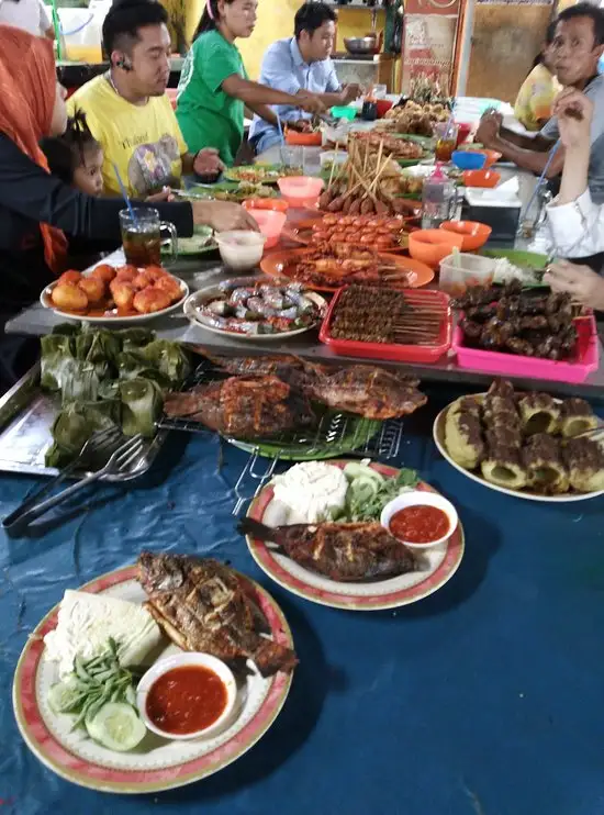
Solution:
<path fill-rule="evenodd" d="M 338 582 L 390 578 L 415 569 L 411 550 L 381 524 L 293 524 L 271 529 L 246 517 L 237 529 L 272 540 L 300 566 Z"/>

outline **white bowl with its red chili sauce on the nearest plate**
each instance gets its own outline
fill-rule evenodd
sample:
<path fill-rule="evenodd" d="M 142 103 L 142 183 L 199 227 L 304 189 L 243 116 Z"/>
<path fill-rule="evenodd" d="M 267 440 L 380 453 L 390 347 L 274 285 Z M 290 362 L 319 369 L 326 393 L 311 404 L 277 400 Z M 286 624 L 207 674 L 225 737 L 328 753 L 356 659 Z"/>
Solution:
<path fill-rule="evenodd" d="M 206 737 L 222 728 L 235 706 L 237 684 L 228 666 L 209 654 L 158 660 L 136 690 L 138 713 L 164 738 Z"/>

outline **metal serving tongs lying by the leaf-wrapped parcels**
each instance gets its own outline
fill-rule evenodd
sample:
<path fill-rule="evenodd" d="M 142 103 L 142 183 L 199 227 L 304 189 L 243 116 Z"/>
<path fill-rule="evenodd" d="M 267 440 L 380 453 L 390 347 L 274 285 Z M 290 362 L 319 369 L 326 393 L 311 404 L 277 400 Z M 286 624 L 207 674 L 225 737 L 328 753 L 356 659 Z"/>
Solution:
<path fill-rule="evenodd" d="M 83 490 L 94 481 L 98 481 L 103 476 L 114 476 L 126 470 L 143 453 L 145 442 L 143 436 L 137 434 L 115 447 L 121 438 L 122 433 L 118 427 L 111 427 L 92 434 L 81 448 L 79 456 L 77 456 L 74 461 L 67 465 L 58 476 L 52 479 L 41 490 L 37 490 L 33 495 L 25 499 L 25 501 L 14 510 L 14 512 L 11 512 L 10 515 L 7 515 L 7 517 L 3 518 L 3 528 L 12 529 L 16 526 L 25 526 L 32 521 L 46 514 L 55 506 L 63 504 L 77 492 Z M 98 464 L 99 461 L 105 461 L 105 464 L 100 468 L 92 470 L 85 478 L 76 481 L 75 484 L 71 484 L 71 487 L 68 487 L 66 490 L 63 490 L 58 494 L 53 495 L 45 501 L 41 501 L 44 495 L 47 495 L 57 487 L 57 484 L 63 483 L 63 481 L 72 476 L 74 472 L 86 469 L 93 462 Z"/>

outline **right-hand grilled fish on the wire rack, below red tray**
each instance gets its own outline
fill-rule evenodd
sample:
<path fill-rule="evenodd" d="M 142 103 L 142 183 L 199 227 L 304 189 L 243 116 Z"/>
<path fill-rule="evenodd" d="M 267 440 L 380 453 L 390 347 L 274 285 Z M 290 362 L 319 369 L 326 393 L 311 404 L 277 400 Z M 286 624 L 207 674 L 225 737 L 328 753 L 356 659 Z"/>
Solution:
<path fill-rule="evenodd" d="M 366 418 L 395 418 L 413 413 L 427 402 L 427 397 L 416 389 L 416 379 L 354 365 L 334 373 L 317 377 L 303 384 L 309 399 Z"/>

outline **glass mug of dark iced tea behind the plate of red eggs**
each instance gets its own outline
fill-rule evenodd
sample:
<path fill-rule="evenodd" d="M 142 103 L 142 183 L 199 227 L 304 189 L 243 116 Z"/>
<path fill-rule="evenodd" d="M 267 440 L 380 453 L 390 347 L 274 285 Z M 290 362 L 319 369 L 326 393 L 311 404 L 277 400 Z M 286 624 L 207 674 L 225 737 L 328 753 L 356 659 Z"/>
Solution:
<path fill-rule="evenodd" d="M 178 258 L 176 226 L 168 221 L 160 221 L 157 210 L 148 206 L 136 206 L 132 213 L 130 210 L 122 210 L 120 225 L 126 264 L 136 267 L 160 266 L 163 231 L 169 233 L 167 241 L 170 252 L 169 263 L 174 264 Z"/>

